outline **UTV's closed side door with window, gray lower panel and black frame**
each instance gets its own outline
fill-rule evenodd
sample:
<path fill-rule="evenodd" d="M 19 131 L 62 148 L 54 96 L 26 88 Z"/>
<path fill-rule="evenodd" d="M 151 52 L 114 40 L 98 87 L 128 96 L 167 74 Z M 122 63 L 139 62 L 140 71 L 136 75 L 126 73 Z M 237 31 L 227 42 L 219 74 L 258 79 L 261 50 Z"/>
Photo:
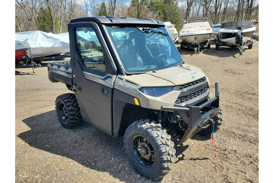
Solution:
<path fill-rule="evenodd" d="M 69 29 L 72 82 L 83 120 L 109 135 L 116 66 L 100 28 L 94 22 L 72 23 Z"/>

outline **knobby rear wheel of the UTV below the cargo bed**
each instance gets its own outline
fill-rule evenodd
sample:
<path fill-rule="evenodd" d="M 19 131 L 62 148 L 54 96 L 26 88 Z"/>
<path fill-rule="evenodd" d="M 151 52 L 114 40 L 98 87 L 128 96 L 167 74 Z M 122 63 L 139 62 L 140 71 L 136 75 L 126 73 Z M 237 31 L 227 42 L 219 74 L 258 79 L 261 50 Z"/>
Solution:
<path fill-rule="evenodd" d="M 83 122 L 80 108 L 73 93 L 60 95 L 55 100 L 58 120 L 65 128 L 71 128 Z"/>

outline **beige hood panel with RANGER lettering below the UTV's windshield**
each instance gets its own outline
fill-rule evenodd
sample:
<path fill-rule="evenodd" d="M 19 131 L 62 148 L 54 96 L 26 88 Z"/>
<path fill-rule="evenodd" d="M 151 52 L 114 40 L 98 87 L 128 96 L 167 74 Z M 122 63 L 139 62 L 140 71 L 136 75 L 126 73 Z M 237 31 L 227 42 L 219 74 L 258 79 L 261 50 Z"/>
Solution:
<path fill-rule="evenodd" d="M 205 77 L 205 73 L 190 64 L 181 64 L 163 70 L 150 71 L 126 77 L 139 87 L 178 86 Z"/>

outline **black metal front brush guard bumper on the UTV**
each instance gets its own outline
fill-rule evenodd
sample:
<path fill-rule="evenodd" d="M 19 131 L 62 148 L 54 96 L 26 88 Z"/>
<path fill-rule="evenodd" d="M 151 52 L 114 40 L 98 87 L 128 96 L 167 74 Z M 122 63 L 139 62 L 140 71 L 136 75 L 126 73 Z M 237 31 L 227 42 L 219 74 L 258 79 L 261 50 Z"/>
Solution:
<path fill-rule="evenodd" d="M 204 109 L 201 114 L 201 109 Z M 219 106 L 219 86 L 215 83 L 215 97 L 201 104 L 200 106 L 187 107 L 169 107 L 161 106 L 161 110 L 177 111 L 182 120 L 187 121 L 188 128 L 181 138 L 180 144 L 191 138 L 196 132 L 201 129 L 206 129 L 214 123 L 212 119 L 220 110 Z"/>

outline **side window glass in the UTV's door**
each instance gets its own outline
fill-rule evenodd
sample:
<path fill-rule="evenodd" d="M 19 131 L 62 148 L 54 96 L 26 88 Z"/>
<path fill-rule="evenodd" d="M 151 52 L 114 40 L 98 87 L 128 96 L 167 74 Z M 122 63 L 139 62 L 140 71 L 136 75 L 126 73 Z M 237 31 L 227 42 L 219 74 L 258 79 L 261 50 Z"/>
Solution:
<path fill-rule="evenodd" d="M 93 70 L 106 71 L 104 51 L 91 27 L 76 28 L 77 51 L 84 65 Z"/>

